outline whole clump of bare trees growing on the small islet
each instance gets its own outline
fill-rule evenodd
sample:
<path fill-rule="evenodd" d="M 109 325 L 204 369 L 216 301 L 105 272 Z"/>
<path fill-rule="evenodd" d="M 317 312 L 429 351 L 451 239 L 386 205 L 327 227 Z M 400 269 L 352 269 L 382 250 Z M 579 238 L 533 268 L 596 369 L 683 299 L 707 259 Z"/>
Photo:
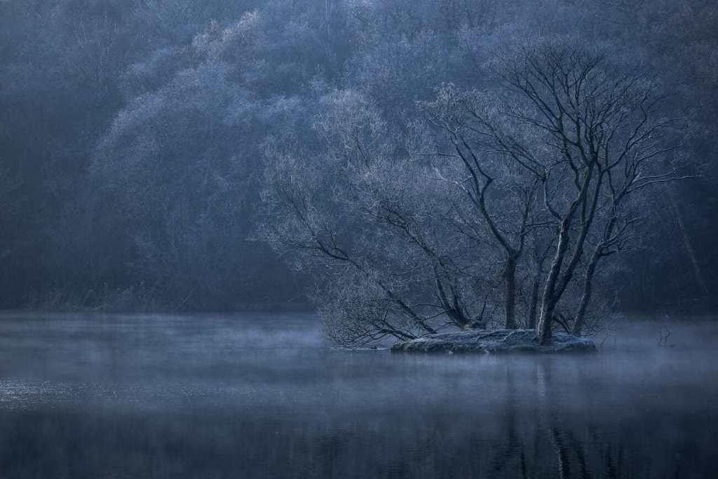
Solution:
<path fill-rule="evenodd" d="M 498 87 L 443 85 L 396 126 L 337 90 L 314 119 L 323 154 L 269 150 L 267 238 L 321 266 L 338 342 L 487 321 L 541 343 L 581 334 L 607 314 L 620 282 L 600 284 L 602 266 L 635 246 L 655 187 L 695 176 L 686 118 L 661 109 L 651 75 L 560 41 L 496 70 Z"/>

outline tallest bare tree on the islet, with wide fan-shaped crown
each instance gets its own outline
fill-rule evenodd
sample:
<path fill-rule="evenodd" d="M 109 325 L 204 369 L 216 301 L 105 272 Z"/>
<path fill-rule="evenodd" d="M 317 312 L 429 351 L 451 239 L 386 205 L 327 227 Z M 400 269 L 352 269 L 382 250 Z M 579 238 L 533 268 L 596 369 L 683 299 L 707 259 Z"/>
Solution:
<path fill-rule="evenodd" d="M 600 53 L 571 46 L 524 50 L 505 67 L 503 78 L 526 105 L 505 116 L 543 141 L 536 149 L 492 124 L 488 134 L 541 180 L 544 206 L 558 225 L 536 327 L 545 344 L 551 340 L 556 307 L 584 262 L 587 280 L 574 325 L 580 332 L 598 259 L 620 248 L 623 233 L 635 223 L 621 208 L 624 198 L 686 177 L 666 165 L 679 146 L 668 132 L 679 128 L 681 119 L 658 113 L 663 97 L 642 73 L 621 70 Z M 584 261 L 587 238 L 602 215 L 607 219 L 599 245 Z"/>

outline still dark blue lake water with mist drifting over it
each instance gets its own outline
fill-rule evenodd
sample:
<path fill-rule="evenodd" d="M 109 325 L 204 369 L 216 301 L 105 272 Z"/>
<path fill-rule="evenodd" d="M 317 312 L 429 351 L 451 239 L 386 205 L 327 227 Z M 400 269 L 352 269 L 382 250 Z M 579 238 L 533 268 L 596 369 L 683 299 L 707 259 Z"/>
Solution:
<path fill-rule="evenodd" d="M 718 327 L 661 327 L 491 358 L 332 350 L 302 315 L 5 315 L 0 477 L 718 477 Z"/>

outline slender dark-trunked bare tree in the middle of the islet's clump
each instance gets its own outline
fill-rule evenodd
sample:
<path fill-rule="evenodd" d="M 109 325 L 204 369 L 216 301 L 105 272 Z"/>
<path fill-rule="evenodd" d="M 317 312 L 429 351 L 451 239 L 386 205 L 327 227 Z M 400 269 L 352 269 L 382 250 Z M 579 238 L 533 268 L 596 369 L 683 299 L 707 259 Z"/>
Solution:
<path fill-rule="evenodd" d="M 475 215 L 467 223 L 476 237 L 477 228 L 488 236 L 503 254 L 501 275 L 504 282 L 504 325 L 516 329 L 516 274 L 526 238 L 533 227 L 539 182 L 535 175 L 527 175 L 521 168 L 507 168 L 504 155 L 485 146 L 486 121 L 480 116 L 485 108 L 484 98 L 474 92 L 460 93 L 452 85 L 440 88 L 437 100 L 421 103 L 426 118 L 444 131 L 449 139 L 448 149 L 439 149 L 439 162 L 454 162 L 448 168 L 434 165 L 440 180 L 452 184 L 468 200 Z M 505 200 L 508 197 L 508 201 Z M 480 225 L 479 225 L 480 223 Z M 483 239 L 482 241 L 487 241 Z"/>

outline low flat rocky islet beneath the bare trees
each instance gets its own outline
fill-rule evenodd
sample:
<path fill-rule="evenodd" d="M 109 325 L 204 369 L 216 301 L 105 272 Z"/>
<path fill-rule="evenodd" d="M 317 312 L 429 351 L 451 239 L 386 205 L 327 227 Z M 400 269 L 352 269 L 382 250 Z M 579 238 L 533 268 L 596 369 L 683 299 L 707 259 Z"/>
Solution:
<path fill-rule="evenodd" d="M 392 353 L 593 353 L 596 345 L 588 338 L 554 332 L 550 345 L 534 340 L 533 330 L 467 330 L 442 332 L 396 343 Z"/>

